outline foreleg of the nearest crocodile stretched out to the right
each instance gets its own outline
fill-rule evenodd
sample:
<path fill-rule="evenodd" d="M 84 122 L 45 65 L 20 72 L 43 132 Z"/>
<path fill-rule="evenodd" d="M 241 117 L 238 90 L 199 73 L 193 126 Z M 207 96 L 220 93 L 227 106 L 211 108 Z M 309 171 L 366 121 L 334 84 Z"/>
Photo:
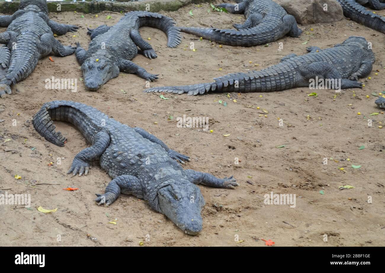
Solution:
<path fill-rule="evenodd" d="M 236 182 L 236 179 L 233 178 L 233 176 L 230 176 L 229 178 L 225 177 L 224 179 L 221 179 L 209 173 L 201 173 L 200 171 L 194 171 L 194 170 L 184 170 L 184 174 L 187 176 L 187 179 L 194 184 L 203 184 L 214 188 L 226 188 L 226 189 L 234 189 L 234 187 L 239 186 L 239 184 Z"/>

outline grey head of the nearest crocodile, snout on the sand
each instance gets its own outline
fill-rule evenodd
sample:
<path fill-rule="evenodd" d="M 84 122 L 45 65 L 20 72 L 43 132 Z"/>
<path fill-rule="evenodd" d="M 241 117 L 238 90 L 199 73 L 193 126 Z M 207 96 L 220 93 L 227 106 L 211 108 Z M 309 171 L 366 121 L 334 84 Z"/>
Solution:
<path fill-rule="evenodd" d="M 158 200 L 162 213 L 186 234 L 202 230 L 204 199 L 198 186 L 189 181 L 172 183 L 158 190 Z"/>

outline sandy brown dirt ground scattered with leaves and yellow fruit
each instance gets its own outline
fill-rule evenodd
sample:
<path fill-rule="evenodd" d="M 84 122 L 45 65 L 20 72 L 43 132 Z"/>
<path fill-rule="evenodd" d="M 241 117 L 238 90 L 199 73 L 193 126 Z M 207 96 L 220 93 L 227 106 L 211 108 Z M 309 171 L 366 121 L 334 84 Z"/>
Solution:
<path fill-rule="evenodd" d="M 194 16 L 189 15 L 191 9 Z M 209 4 L 190 5 L 164 14 L 178 25 L 231 28 L 232 23 L 244 22 L 243 15 L 208 13 L 208 9 Z M 378 13 L 385 15 L 385 10 Z M 57 37 L 60 42 L 75 45 L 79 41 L 87 48 L 86 27 L 114 25 L 122 16 L 109 12 L 98 17 L 81 15 L 50 14 L 58 22 L 80 26 L 76 37 L 67 33 Z M 107 15 L 112 18 L 107 19 Z M 158 57 L 149 60 L 138 55 L 133 61 L 160 74 L 151 86 L 201 83 L 227 73 L 268 67 L 285 55 L 306 53 L 308 46 L 332 47 L 349 36 L 361 35 L 373 43 L 377 57 L 371 79 L 362 79 L 365 87 L 342 90 L 337 95 L 334 90 L 316 90 L 318 97 L 308 96 L 314 90 L 295 88 L 230 93 L 229 97 L 223 93 L 165 94 L 169 100 L 163 100 L 160 94 L 142 93 L 145 81 L 128 73 L 120 73 L 97 92 L 88 91 L 79 80 L 82 73 L 75 55 L 52 56 L 54 62 L 49 57 L 41 59 L 32 75 L 13 86 L 12 95 L 0 100 L 0 120 L 4 120 L 0 122 L 0 193 L 30 194 L 32 200 L 30 209 L 0 206 L 0 245 L 139 246 L 142 241 L 144 246 L 264 246 L 260 239 L 273 240 L 276 246 L 385 245 L 385 129 L 378 128 L 385 118 L 382 113 L 369 116 L 380 112 L 371 94 L 385 89 L 384 35 L 347 19 L 301 28 L 300 38 L 285 37 L 268 46 L 220 48 L 184 33 L 181 45 L 167 48 L 163 32 L 143 27 L 142 37 L 151 37 L 149 42 Z M 196 51 L 190 50 L 190 42 Z M 278 42 L 283 42 L 282 50 L 278 50 Z M 52 76 L 77 78 L 77 92 L 46 90 L 45 79 Z M 97 206 L 94 194 L 104 192 L 110 181 L 98 163 L 88 176 L 66 174 L 74 156 L 89 145 L 81 133 L 69 123 L 55 122 L 57 131 L 68 138 L 65 147 L 59 147 L 45 141 L 30 124 L 42 104 L 52 100 L 86 103 L 119 122 L 142 127 L 172 149 L 189 155 L 192 160 L 184 168 L 219 177 L 234 175 L 240 186 L 235 190 L 199 186 L 206 206 L 203 230 L 197 236 L 185 235 L 134 196 L 121 195 L 108 208 Z M 266 117 L 262 110 L 268 111 Z M 176 118 L 183 115 L 208 117 L 213 133 L 177 128 Z M 373 120 L 372 127 L 368 127 L 368 118 Z M 12 126 L 14 120 L 16 126 Z M 277 148 L 281 145 L 285 146 Z M 360 146 L 365 148 L 360 150 Z M 60 165 L 58 157 L 62 158 Z M 234 164 L 236 157 L 239 165 Z M 328 158 L 327 165 L 324 158 Z M 54 164 L 49 166 L 50 162 Z M 15 175 L 22 178 L 17 180 Z M 340 190 L 341 185 L 355 188 Z M 67 187 L 79 190 L 63 190 Z M 265 205 L 264 195 L 271 191 L 295 194 L 295 208 Z M 42 213 L 37 210 L 39 206 L 57 211 Z M 109 223 L 114 219 L 116 225 Z"/>

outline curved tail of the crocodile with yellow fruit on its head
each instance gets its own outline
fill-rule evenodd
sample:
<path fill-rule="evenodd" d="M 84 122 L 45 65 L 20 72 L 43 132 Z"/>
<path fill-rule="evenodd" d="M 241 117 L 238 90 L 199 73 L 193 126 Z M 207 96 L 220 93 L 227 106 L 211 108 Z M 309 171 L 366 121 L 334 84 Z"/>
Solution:
<path fill-rule="evenodd" d="M 176 47 L 182 41 L 179 28 L 172 18 L 156 12 L 133 11 L 125 14 L 139 17 L 139 27 L 159 28 L 167 35 L 167 47 Z"/>

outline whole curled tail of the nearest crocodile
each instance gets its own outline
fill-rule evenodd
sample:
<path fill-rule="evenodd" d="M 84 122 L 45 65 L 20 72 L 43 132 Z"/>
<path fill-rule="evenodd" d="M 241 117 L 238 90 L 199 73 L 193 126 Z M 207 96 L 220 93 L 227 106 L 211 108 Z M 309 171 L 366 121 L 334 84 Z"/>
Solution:
<path fill-rule="evenodd" d="M 67 138 L 55 132 L 53 120 L 70 122 L 77 127 L 85 138 L 92 143 L 95 131 L 108 119 L 104 113 L 88 105 L 65 100 L 45 103 L 32 118 L 35 130 L 46 140 L 57 146 L 64 146 Z M 99 125 L 98 125 L 99 123 Z"/>

